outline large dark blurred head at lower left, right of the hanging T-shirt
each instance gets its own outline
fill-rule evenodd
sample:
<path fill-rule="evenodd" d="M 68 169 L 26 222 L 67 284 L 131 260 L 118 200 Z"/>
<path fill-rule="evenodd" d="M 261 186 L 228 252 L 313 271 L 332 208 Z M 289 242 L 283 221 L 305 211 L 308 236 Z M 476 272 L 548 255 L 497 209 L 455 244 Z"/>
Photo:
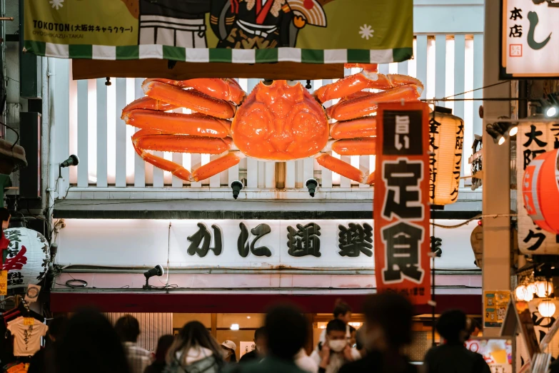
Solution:
<path fill-rule="evenodd" d="M 81 310 L 70 320 L 56 347 L 59 373 L 129 373 L 124 347 L 111 322 L 99 312 Z"/>

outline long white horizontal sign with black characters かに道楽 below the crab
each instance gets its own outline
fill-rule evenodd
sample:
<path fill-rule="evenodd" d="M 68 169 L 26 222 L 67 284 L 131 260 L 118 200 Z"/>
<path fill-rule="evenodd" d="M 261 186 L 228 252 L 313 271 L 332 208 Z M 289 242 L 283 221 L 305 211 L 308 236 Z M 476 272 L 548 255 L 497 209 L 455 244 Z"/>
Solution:
<path fill-rule="evenodd" d="M 464 222 L 435 220 L 440 225 Z M 61 265 L 153 267 L 166 266 L 168 260 L 173 268 L 371 270 L 375 267 L 373 252 L 384 247 L 373 240 L 376 228 L 372 219 L 64 219 L 64 224 L 56 254 Z M 475 269 L 467 240 L 470 229 L 463 225 L 436 232 L 443 242 L 443 255 L 436 259 L 438 268 Z M 452 247 L 452 252 L 445 247 Z"/>

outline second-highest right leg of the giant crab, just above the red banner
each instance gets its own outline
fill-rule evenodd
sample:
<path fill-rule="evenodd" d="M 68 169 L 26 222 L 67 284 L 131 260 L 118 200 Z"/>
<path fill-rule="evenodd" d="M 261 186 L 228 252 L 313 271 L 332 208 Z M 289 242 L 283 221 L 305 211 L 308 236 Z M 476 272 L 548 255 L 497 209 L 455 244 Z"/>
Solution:
<path fill-rule="evenodd" d="M 401 86 L 388 91 L 369 93 L 366 96 L 343 101 L 328 108 L 326 114 L 329 118 L 336 119 L 337 121 L 347 121 L 349 119 L 376 113 L 378 103 L 416 100 L 419 96 L 418 86 Z"/>

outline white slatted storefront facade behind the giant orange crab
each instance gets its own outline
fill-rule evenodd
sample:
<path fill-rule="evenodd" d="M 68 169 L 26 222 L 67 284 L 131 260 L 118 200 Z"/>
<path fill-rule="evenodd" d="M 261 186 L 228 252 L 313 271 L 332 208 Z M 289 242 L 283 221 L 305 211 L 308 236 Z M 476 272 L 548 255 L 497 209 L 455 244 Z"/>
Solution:
<path fill-rule="evenodd" d="M 379 72 L 419 78 L 423 98 L 481 86 L 483 1 L 414 3 L 415 58 L 380 65 Z M 158 325 L 146 333 L 144 346 L 151 348 L 158 335 L 172 332 L 192 314 L 218 339 L 246 342 L 274 302 L 297 303 L 320 329 L 336 299 L 358 312 L 363 298 L 374 292 L 373 188 L 326 170 L 313 158 L 286 163 L 245 158 L 207 180 L 183 182 L 144 163 L 129 140 L 134 128 L 121 120 L 126 103 L 143 96 L 142 79 L 112 78 L 106 86 L 106 79 L 72 81 L 70 61 L 49 58 L 48 66 L 52 74 L 44 102 L 54 110 L 44 123 L 51 123 L 49 189 L 55 192 L 49 205 L 59 245 L 56 264 L 63 269 L 51 292 L 51 311 L 94 305 L 111 318 L 117 312 L 145 314 L 143 327 Z M 258 79 L 239 83 L 251 91 Z M 331 81 L 311 81 L 311 91 L 326 83 Z M 462 173 L 467 176 L 470 144 L 481 133 L 478 103 L 440 105 L 464 118 Z M 56 179 L 58 163 L 69 154 L 79 156 L 79 165 L 63 168 Z M 185 168 L 217 157 L 156 155 Z M 337 156 L 364 173 L 374 170 L 374 155 Z M 319 184 L 313 198 L 305 185 L 310 178 Z M 235 180 L 245 185 L 238 200 L 230 187 Z M 456 203 L 433 212 L 436 224 L 458 226 L 480 213 L 480 190 L 471 190 L 467 178 L 460 187 Z M 443 255 L 435 260 L 435 312 L 462 307 L 480 313 L 481 276 L 470 245 L 475 224 L 435 228 L 432 234 L 443 242 Z M 166 273 L 150 279 L 156 288 L 143 290 L 143 272 L 155 265 Z M 86 285 L 76 287 L 75 279 Z M 420 315 L 430 312 L 429 306 L 417 308 L 418 332 L 427 330 L 419 326 Z M 235 322 L 239 317 L 246 325 Z M 238 336 L 231 334 L 237 332 L 231 325 L 238 325 Z"/>

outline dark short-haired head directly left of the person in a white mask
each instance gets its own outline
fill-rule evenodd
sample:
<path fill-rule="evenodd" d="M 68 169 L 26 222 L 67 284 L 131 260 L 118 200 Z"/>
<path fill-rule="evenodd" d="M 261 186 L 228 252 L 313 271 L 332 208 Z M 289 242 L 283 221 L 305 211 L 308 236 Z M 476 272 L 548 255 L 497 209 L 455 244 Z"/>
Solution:
<path fill-rule="evenodd" d="M 305 345 L 307 323 L 301 311 L 292 305 L 273 307 L 266 315 L 268 353 L 280 359 L 293 359 Z"/>

